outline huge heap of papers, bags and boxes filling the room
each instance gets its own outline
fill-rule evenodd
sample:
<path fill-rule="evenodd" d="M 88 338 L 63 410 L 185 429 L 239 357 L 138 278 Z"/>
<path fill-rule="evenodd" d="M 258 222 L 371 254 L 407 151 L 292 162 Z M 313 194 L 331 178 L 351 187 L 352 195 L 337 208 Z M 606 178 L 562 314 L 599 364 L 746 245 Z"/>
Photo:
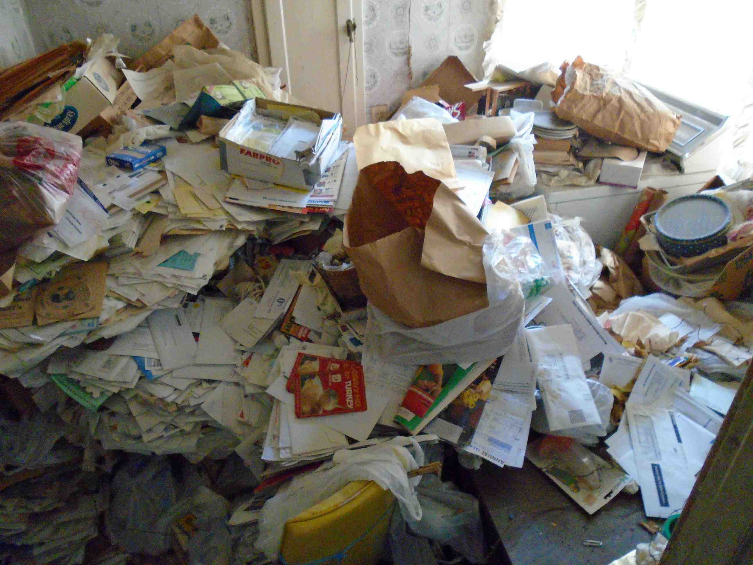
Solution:
<path fill-rule="evenodd" d="M 198 17 L 0 72 L 2 562 L 500 562 L 453 477 L 505 467 L 640 497 L 653 563 L 753 356 L 753 184 L 639 189 L 682 118 L 605 72 L 350 133 Z M 607 249 L 537 182 L 641 196 Z"/>

